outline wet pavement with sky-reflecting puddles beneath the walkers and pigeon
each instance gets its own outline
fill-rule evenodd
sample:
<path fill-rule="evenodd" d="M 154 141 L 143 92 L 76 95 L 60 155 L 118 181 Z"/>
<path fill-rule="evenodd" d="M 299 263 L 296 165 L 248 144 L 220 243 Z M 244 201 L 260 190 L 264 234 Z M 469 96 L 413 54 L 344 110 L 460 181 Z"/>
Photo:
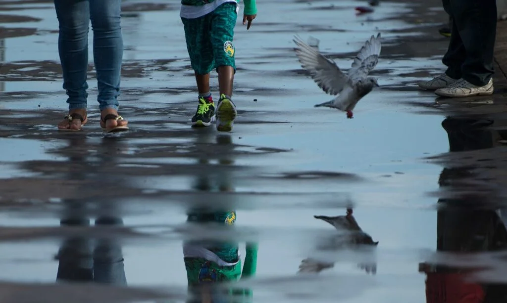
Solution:
<path fill-rule="evenodd" d="M 447 17 L 439 0 L 407 3 L 356 16 L 366 2 L 258 0 L 251 29 L 235 32 L 239 116 L 219 134 L 189 126 L 196 93 L 177 2 L 124 0 L 130 131 L 104 135 L 92 63 L 85 131 L 56 131 L 67 104 L 52 2 L 1 1 L 0 301 L 216 302 L 232 287 L 237 301 L 416 303 L 465 267 L 480 269 L 487 302 L 506 301 L 506 93 L 417 90 L 443 71 Z M 301 70 L 293 35 L 319 38 L 346 69 L 377 32 L 381 87 L 354 119 L 313 108 L 329 96 Z M 233 215 L 234 228 L 187 224 L 189 210 Z M 189 292 L 190 240 L 239 243 L 255 277 Z"/>

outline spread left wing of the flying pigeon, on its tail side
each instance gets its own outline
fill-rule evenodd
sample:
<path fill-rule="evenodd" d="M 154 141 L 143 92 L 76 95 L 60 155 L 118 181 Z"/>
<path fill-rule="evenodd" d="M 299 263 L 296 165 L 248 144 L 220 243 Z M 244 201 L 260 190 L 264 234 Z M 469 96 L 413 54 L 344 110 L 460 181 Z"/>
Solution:
<path fill-rule="evenodd" d="M 325 93 L 338 95 L 345 85 L 348 77 L 332 60 L 325 58 L 316 47 L 307 45 L 299 37 L 294 38 L 298 46 L 294 51 L 301 66 L 310 72 L 310 76 Z"/>

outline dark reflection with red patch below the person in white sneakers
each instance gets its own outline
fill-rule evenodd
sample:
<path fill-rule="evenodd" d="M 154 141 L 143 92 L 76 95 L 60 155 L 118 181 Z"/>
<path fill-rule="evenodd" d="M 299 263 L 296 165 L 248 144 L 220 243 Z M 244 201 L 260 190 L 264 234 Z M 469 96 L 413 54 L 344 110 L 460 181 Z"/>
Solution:
<path fill-rule="evenodd" d="M 475 297 L 481 302 L 502 302 L 507 299 L 505 259 L 488 257 L 491 252 L 504 253 L 507 249 L 506 218 L 502 218 L 505 205 L 503 201 L 495 203 L 494 183 L 479 181 L 481 176 L 476 165 L 481 165 L 480 162 L 470 161 L 470 165 L 459 166 L 452 163 L 455 153 L 493 148 L 496 145 L 493 138 L 498 133 L 491 126 L 496 122 L 474 117 L 448 117 L 442 122 L 449 137 L 451 161 L 443 161 L 448 167 L 442 170 L 439 185 L 444 193 L 453 195 L 438 200 L 438 253 L 419 265 L 419 271 L 426 275 L 427 300 L 458 302 L 463 297 Z"/>

